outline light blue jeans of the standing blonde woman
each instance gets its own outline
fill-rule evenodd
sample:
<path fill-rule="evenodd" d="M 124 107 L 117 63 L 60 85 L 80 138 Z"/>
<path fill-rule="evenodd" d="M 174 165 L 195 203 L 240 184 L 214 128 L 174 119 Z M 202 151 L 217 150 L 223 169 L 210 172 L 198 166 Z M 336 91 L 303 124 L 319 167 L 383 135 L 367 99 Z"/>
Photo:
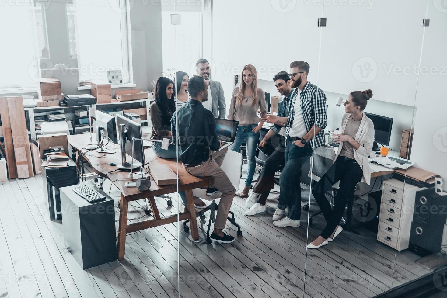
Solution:
<path fill-rule="evenodd" d="M 236 139 L 234 143 L 228 148 L 232 151 L 239 151 L 240 145 L 242 142 L 247 144 L 247 161 L 248 161 L 248 169 L 247 169 L 247 178 L 245 179 L 245 186 L 249 186 L 253 180 L 254 170 L 256 169 L 256 147 L 259 143 L 259 132 L 254 133 L 252 131 L 257 124 L 251 125 L 240 125 L 237 128 Z"/>

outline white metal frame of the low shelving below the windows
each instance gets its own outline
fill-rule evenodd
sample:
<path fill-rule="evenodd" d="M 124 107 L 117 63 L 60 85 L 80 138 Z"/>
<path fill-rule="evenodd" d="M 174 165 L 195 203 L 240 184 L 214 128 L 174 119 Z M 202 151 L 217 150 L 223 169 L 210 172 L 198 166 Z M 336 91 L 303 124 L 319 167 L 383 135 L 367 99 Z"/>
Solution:
<path fill-rule="evenodd" d="M 30 134 L 30 138 L 33 140 L 37 139 L 37 134 L 40 133 L 39 129 L 36 129 L 36 124 L 34 121 L 34 113 L 35 111 L 39 110 L 57 110 L 57 109 L 72 109 L 72 108 L 88 108 L 88 107 L 94 107 L 95 110 L 98 110 L 98 106 L 104 106 L 104 105 L 127 105 L 127 104 L 133 104 L 133 103 L 140 103 L 140 105 L 143 106 L 143 103 L 146 103 L 146 115 L 149 119 L 149 105 L 151 104 L 152 98 L 145 98 L 145 99 L 137 99 L 134 101 L 112 101 L 110 103 L 106 104 L 96 104 L 96 105 L 74 105 L 74 106 L 52 106 L 52 107 L 33 107 L 33 108 L 25 108 L 25 111 L 28 112 L 28 118 L 30 122 L 30 130 L 28 130 L 28 134 Z M 148 123 L 148 120 L 142 120 L 141 123 Z M 76 127 L 76 129 L 85 129 L 90 128 L 91 126 L 80 126 Z"/>

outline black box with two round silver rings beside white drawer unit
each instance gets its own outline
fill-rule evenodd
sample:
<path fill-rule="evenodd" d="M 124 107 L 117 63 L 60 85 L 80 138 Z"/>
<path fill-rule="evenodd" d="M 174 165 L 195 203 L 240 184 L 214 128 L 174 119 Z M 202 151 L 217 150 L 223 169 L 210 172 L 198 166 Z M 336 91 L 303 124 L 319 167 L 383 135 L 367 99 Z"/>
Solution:
<path fill-rule="evenodd" d="M 446 195 L 435 193 L 434 188 L 416 192 L 409 249 L 420 256 L 439 252 L 446 219 Z"/>

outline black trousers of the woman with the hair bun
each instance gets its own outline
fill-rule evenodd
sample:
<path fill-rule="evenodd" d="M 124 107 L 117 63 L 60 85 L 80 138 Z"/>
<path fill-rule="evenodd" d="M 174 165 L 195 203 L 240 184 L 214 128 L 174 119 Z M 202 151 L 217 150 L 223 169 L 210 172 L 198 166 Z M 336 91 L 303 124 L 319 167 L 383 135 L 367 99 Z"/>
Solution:
<path fill-rule="evenodd" d="M 328 239 L 343 217 L 348 199 L 354 196 L 355 185 L 362 179 L 363 171 L 355 159 L 346 156 L 338 156 L 335 163 L 321 177 L 312 194 L 315 197 L 321 212 L 326 219 L 326 227 L 321 232 L 321 237 Z M 325 193 L 340 180 L 340 189 L 334 199 L 334 209 L 332 210 Z"/>

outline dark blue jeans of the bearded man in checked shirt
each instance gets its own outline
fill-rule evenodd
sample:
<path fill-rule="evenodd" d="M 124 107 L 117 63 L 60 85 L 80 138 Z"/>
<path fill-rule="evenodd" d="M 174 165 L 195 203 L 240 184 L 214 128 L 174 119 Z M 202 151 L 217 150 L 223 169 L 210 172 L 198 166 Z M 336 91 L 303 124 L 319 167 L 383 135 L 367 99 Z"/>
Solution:
<path fill-rule="evenodd" d="M 287 142 L 284 152 L 284 168 L 279 177 L 279 197 L 278 208 L 284 210 L 287 208 L 287 217 L 291 220 L 299 220 L 301 217 L 301 186 L 299 183 L 301 177 L 301 165 L 303 159 L 312 155 L 312 148 L 309 144 L 304 147 L 298 147 Z"/>

